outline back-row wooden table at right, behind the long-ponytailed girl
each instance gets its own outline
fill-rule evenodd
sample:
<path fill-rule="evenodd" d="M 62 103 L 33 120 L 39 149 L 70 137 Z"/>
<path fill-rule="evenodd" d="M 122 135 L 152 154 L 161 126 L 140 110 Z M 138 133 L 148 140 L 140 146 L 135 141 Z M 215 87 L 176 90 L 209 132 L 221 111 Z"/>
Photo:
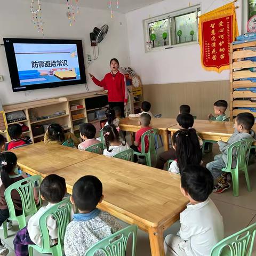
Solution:
<path fill-rule="evenodd" d="M 195 120 L 193 128 L 199 133 L 199 136 L 203 140 L 215 140 L 228 141 L 231 135 L 234 133 L 234 123 L 233 122 L 218 122 L 209 120 Z M 256 131 L 256 125 L 252 127 Z M 174 125 L 168 129 L 173 135 L 174 132 L 180 130 L 178 125 Z M 255 145 L 255 142 L 254 142 Z"/>

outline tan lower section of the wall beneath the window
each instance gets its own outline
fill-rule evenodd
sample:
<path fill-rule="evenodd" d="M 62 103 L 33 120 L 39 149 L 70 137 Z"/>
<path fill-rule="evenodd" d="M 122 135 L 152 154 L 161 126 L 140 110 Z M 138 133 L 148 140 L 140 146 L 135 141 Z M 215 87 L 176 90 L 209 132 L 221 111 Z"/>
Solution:
<path fill-rule="evenodd" d="M 176 118 L 179 106 L 188 104 L 197 119 L 207 119 L 210 113 L 213 114 L 213 102 L 222 99 L 229 103 L 229 81 L 146 84 L 143 85 L 143 97 L 151 102 L 154 115 Z M 229 106 L 226 114 L 229 116 Z"/>

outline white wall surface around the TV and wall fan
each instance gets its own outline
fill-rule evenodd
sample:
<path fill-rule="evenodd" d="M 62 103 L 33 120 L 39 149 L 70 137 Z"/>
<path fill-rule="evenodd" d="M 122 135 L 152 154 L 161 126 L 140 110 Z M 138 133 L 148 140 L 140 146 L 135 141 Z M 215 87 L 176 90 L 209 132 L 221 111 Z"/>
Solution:
<path fill-rule="evenodd" d="M 31 23 L 30 2 L 30 0 L 1 1 L 1 44 L 3 43 L 3 37 L 42 38 L 42 35 L 38 34 Z M 90 91 L 100 90 L 100 87 L 92 83 L 91 79 L 88 78 L 88 72 L 99 79 L 103 78 L 103 75 L 109 71 L 109 60 L 113 57 L 119 60 L 121 66 L 130 65 L 125 14 L 115 13 L 114 18 L 111 19 L 110 11 L 80 7 L 76 22 L 73 26 L 69 26 L 65 4 L 52 4 L 41 1 L 41 7 L 43 21 L 45 22 L 45 38 L 82 39 L 84 55 L 86 53 L 93 54 L 89 35 L 93 28 L 95 26 L 101 27 L 104 24 L 109 25 L 107 36 L 99 44 L 99 59 L 92 62 L 90 67 L 86 69 Z M 85 65 L 87 66 L 86 63 Z M 0 75 L 4 76 L 4 81 L 0 82 L 0 100 L 4 105 L 86 92 L 85 85 L 74 85 L 13 93 L 4 46 L 0 47 Z"/>

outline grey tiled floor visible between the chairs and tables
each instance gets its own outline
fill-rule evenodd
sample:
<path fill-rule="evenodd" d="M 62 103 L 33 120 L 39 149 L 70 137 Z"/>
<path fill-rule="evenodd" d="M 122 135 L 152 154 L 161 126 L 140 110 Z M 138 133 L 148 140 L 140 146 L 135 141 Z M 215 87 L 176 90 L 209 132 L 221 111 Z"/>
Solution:
<path fill-rule="evenodd" d="M 162 151 L 159 149 L 158 151 Z M 214 154 L 218 154 L 218 147 L 214 145 L 213 153 L 206 154 L 204 157 L 204 163 L 212 161 Z M 214 203 L 217 205 L 220 213 L 223 217 L 225 236 L 231 235 L 242 228 L 249 226 L 256 222 L 256 161 L 249 166 L 249 175 L 251 180 L 252 191 L 248 192 L 246 183 L 243 175 L 239 176 L 239 196 L 234 197 L 232 189 L 226 190 L 222 194 L 211 195 Z M 242 173 L 241 173 L 242 174 Z M 123 226 L 126 223 L 122 222 Z M 15 255 L 13 251 L 13 238 L 15 232 L 18 230 L 17 225 L 14 223 L 12 230 L 9 230 L 9 238 L 5 239 L 4 242 L 9 246 L 10 253 L 8 255 Z M 169 233 L 177 233 L 179 230 L 179 222 L 175 222 L 174 225 L 167 229 L 164 233 L 166 236 Z M 0 236 L 3 237 L 3 231 L 0 231 Z M 37 252 L 35 256 L 41 255 Z M 127 253 L 127 256 L 130 255 Z M 148 235 L 139 230 L 137 236 L 137 256 L 150 256 L 150 247 Z M 256 255 L 256 246 L 252 255 Z"/>

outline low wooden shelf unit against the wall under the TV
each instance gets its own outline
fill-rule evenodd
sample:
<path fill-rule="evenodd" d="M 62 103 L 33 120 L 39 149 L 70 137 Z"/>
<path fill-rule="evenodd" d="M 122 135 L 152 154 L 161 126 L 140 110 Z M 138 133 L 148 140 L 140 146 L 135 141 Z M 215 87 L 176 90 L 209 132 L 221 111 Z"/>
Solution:
<path fill-rule="evenodd" d="M 32 133 L 33 126 L 59 123 L 60 125 L 68 126 L 64 129 L 65 131 L 70 131 L 73 133 L 77 132 L 79 131 L 79 129 L 77 129 L 77 126 L 74 129 L 74 125 L 77 125 L 77 121 L 80 121 L 81 123 L 88 122 L 87 112 L 92 111 L 92 109 L 86 110 L 85 100 L 87 98 L 95 98 L 95 100 L 97 100 L 97 97 L 102 95 L 105 95 L 107 97 L 106 92 L 97 91 L 97 92 L 68 95 L 66 97 L 61 97 L 61 98 L 52 98 L 52 99 L 17 103 L 12 105 L 5 105 L 3 106 L 4 115 L 6 117 L 7 113 L 22 110 L 26 115 L 26 120 L 14 122 L 14 123 L 8 123 L 7 126 L 11 124 L 17 124 L 17 123 L 26 124 L 29 127 L 29 131 L 23 132 L 23 134 L 26 136 L 29 136 L 33 142 L 39 142 L 43 139 L 44 133 L 34 136 Z M 70 106 L 75 103 L 79 103 L 83 105 L 83 108 L 70 110 Z M 95 110 L 97 109 L 100 109 L 100 108 L 95 108 Z M 35 120 L 35 119 L 30 120 L 30 117 L 32 117 L 31 116 L 32 113 L 33 113 L 33 116 L 35 117 L 42 117 L 42 116 L 51 116 L 54 113 L 61 110 L 65 110 L 66 114 L 54 116 L 51 118 L 40 119 L 40 120 Z M 72 120 L 72 115 L 80 114 L 80 113 L 84 114 L 83 118 Z M 4 131 L 3 135 L 7 138 L 7 140 L 10 140 L 10 138 L 8 138 L 7 136 L 7 131 Z M 77 133 L 77 135 L 79 135 L 79 132 Z"/>

